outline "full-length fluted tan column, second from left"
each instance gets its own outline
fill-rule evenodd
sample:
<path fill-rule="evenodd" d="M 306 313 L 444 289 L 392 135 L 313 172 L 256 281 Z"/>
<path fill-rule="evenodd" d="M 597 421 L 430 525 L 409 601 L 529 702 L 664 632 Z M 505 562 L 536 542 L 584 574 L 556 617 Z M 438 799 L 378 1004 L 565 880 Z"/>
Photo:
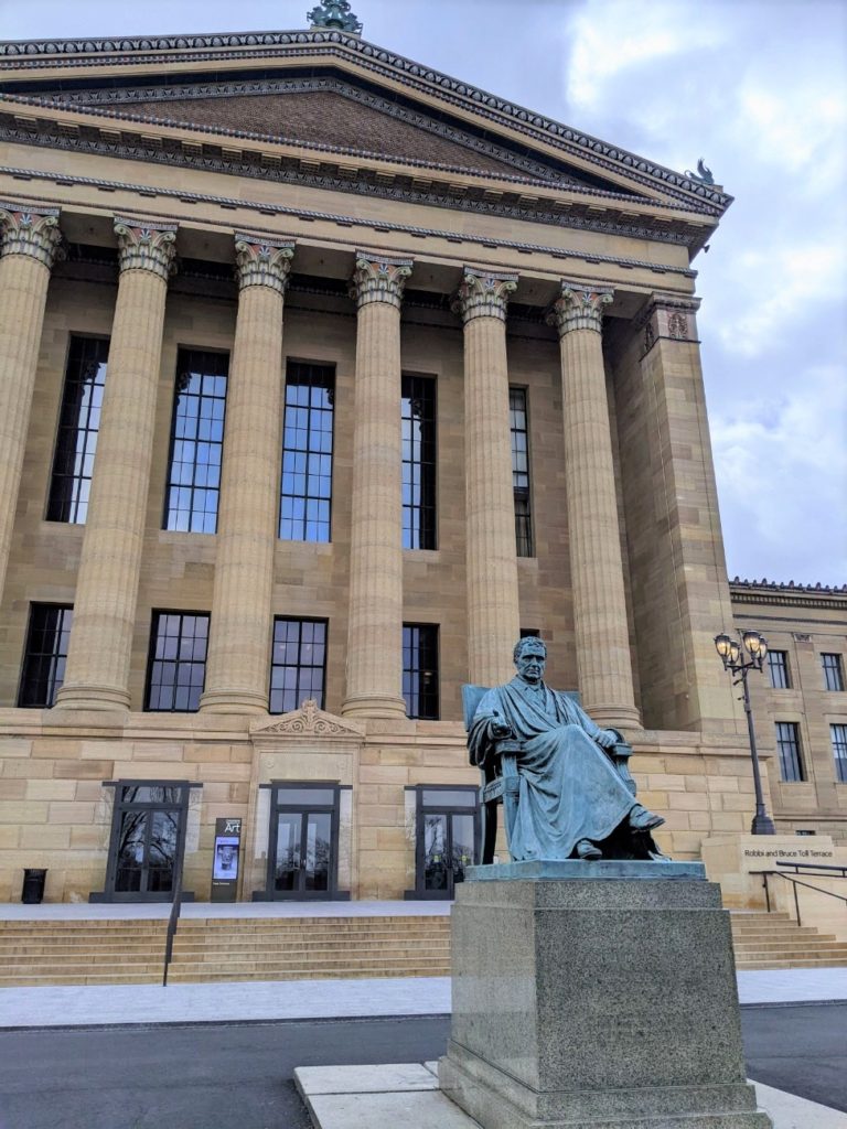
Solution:
<path fill-rule="evenodd" d="M 120 280 L 64 685 L 56 706 L 130 704 L 156 387 L 176 228 L 116 219 Z"/>

